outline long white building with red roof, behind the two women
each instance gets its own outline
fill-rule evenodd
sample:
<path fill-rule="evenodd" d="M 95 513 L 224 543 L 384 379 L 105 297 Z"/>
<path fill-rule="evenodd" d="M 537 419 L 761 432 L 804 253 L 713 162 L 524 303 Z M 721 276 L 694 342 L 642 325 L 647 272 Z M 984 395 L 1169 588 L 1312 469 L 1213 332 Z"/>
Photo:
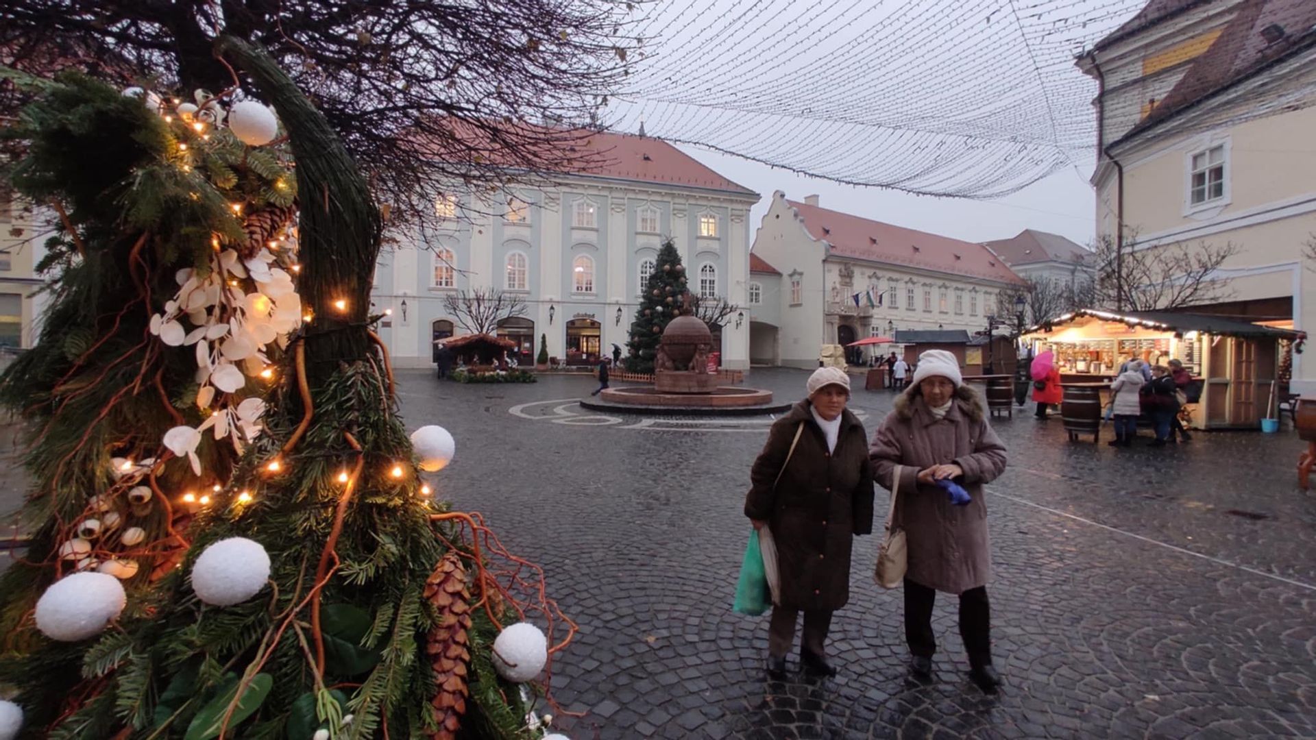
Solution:
<path fill-rule="evenodd" d="M 816 367 L 824 344 L 909 329 L 986 329 L 998 294 L 1024 284 L 980 244 L 829 211 L 817 196 L 787 200 L 780 191 L 751 257 L 778 275 L 774 282 L 771 271 L 751 273 L 765 299 L 775 300 L 750 312 L 750 357 L 795 367 Z"/>

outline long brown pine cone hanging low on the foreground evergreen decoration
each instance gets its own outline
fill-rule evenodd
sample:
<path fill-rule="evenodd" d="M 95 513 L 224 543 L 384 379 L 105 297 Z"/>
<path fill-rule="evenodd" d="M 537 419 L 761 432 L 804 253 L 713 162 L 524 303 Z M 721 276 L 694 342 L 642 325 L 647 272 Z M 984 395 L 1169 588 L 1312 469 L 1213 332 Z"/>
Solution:
<path fill-rule="evenodd" d="M 438 729 L 430 740 L 453 740 L 466 712 L 467 664 L 471 661 L 471 593 L 466 583 L 466 569 L 455 552 L 438 561 L 434 573 L 425 581 L 425 599 L 434 607 L 438 625 L 429 631 L 425 654 L 434 669 L 434 719 Z"/>

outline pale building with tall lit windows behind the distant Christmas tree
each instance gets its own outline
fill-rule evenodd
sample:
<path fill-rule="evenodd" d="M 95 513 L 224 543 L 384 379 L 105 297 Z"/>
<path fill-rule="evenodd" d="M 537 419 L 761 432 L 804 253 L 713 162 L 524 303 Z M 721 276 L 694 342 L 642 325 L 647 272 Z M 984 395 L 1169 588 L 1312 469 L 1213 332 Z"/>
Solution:
<path fill-rule="evenodd" d="M 467 192 L 441 196 L 445 226 L 404 238 L 375 270 L 375 309 L 391 309 L 380 336 L 399 366 L 433 362 L 433 342 L 466 333 L 445 296 L 492 288 L 520 298 L 525 316 L 500 323 L 521 362 L 541 338 L 559 361 L 584 363 L 625 352 L 658 249 L 672 237 L 690 290 L 746 305 L 749 209 L 758 194 L 651 137 L 592 134 L 601 162 L 590 172 L 544 175 L 490 203 Z M 501 198 L 501 196 L 500 196 Z M 722 327 L 725 367 L 749 366 L 749 325 Z"/>

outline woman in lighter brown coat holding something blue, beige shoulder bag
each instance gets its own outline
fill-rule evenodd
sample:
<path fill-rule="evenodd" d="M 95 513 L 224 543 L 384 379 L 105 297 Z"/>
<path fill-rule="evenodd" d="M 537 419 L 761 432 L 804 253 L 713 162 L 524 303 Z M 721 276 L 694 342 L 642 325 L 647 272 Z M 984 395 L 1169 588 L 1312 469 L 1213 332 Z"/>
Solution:
<path fill-rule="evenodd" d="M 895 524 L 905 531 L 905 641 L 909 668 L 930 678 L 937 640 L 932 604 L 937 591 L 959 596 L 959 635 L 969 652 L 970 677 L 995 691 L 1000 677 L 991 662 L 991 545 L 983 483 L 1005 470 L 1005 446 L 996 437 L 979 395 L 963 384 L 959 361 L 933 349 L 919 358 L 913 382 L 882 421 L 870 450 L 878 483 L 894 490 L 903 465 Z M 963 506 L 937 485 L 949 478 L 969 491 Z"/>

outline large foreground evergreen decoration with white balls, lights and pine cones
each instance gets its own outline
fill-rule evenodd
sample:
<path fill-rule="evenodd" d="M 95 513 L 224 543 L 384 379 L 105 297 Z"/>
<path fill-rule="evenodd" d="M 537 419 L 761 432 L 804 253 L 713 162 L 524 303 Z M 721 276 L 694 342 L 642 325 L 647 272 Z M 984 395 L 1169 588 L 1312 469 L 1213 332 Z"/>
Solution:
<path fill-rule="evenodd" d="M 0 716 L 88 740 L 537 736 L 528 689 L 572 625 L 553 645 L 542 573 L 432 500 L 454 442 L 397 417 L 366 179 L 267 55 L 216 50 L 278 119 L 240 88 L 62 76 L 29 80 L 8 133 L 13 187 L 63 228 L 41 341 L 0 378 L 33 432 Z"/>

